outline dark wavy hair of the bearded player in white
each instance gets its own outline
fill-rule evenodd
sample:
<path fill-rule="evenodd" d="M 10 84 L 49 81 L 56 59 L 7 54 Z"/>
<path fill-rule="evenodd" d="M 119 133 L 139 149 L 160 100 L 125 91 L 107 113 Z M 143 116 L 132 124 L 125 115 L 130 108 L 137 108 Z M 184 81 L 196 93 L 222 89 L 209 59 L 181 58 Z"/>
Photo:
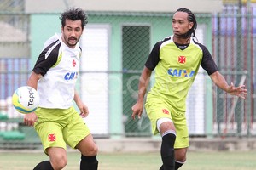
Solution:
<path fill-rule="evenodd" d="M 88 23 L 88 15 L 81 8 L 69 8 L 69 9 L 67 9 L 66 11 L 61 13 L 60 19 L 61 19 L 61 26 L 63 28 L 66 25 L 66 19 L 81 20 L 82 29 L 84 29 L 84 26 Z"/>

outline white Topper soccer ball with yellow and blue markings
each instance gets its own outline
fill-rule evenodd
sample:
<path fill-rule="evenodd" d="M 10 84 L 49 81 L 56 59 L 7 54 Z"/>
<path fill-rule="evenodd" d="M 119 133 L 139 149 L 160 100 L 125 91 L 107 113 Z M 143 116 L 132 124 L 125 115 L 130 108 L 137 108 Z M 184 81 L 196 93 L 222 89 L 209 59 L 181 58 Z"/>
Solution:
<path fill-rule="evenodd" d="M 39 105 L 39 95 L 35 88 L 22 86 L 13 94 L 13 105 L 20 113 L 27 114 L 36 111 Z"/>

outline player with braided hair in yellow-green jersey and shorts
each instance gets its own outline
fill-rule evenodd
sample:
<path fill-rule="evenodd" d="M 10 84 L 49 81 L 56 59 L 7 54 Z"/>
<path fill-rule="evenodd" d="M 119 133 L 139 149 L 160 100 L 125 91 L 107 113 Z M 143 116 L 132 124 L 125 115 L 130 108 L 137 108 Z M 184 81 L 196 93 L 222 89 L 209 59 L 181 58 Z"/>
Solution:
<path fill-rule="evenodd" d="M 132 118 L 140 118 L 148 82 L 155 71 L 154 87 L 148 92 L 145 109 L 153 133 L 162 137 L 160 170 L 177 170 L 186 161 L 186 97 L 200 65 L 218 88 L 242 99 L 247 95 L 244 85 L 235 87 L 225 81 L 207 48 L 195 41 L 196 26 L 195 15 L 188 8 L 177 9 L 172 18 L 173 35 L 155 43 L 140 77 L 137 103 L 131 108 Z"/>

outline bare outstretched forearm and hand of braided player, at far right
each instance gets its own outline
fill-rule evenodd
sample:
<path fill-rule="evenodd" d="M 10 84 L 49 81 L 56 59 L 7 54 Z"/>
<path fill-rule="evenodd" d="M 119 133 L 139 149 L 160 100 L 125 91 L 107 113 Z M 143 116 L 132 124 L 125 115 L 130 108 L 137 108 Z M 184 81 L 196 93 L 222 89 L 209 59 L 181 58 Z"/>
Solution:
<path fill-rule="evenodd" d="M 229 85 L 225 81 L 224 77 L 219 73 L 219 71 L 212 73 L 210 77 L 212 79 L 212 82 L 214 82 L 218 86 L 218 88 L 223 89 L 228 94 L 236 95 L 242 99 L 245 99 L 247 95 L 247 89 L 245 88 L 245 85 L 235 87 L 233 82 L 231 82 Z"/>

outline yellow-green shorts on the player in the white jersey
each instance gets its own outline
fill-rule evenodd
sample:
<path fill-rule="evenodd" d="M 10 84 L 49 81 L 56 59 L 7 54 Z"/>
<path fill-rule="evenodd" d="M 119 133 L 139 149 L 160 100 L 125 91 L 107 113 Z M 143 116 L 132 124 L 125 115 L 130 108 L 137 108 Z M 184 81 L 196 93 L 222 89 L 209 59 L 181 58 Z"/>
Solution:
<path fill-rule="evenodd" d="M 66 144 L 75 148 L 79 141 L 90 134 L 84 120 L 73 107 L 69 109 L 38 108 L 35 113 L 38 116 L 38 122 L 34 127 L 45 153 L 49 147 L 66 149 Z"/>

